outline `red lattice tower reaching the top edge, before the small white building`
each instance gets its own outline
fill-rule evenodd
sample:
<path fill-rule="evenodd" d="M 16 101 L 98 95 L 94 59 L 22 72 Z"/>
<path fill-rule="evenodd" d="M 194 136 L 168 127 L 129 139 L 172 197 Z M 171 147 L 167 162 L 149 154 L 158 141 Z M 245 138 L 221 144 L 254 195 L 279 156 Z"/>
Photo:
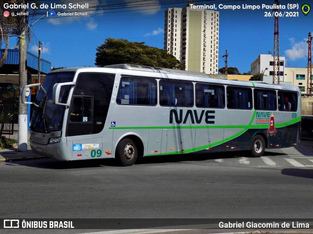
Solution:
<path fill-rule="evenodd" d="M 279 1 L 275 0 L 275 5 L 279 5 Z M 274 54 L 273 54 L 273 84 L 280 82 L 280 61 L 279 61 L 279 27 L 278 27 L 278 9 L 273 10 L 275 17 L 274 22 Z"/>

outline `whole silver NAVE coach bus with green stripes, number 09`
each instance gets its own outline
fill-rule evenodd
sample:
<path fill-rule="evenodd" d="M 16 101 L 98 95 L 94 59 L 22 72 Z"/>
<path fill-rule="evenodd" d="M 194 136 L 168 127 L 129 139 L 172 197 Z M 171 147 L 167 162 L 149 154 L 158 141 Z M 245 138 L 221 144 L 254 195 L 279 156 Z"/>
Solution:
<path fill-rule="evenodd" d="M 300 137 L 295 86 L 129 64 L 52 71 L 22 95 L 32 86 L 40 90 L 31 149 L 59 160 L 114 157 L 129 166 L 139 156 L 201 151 L 262 156 Z"/>

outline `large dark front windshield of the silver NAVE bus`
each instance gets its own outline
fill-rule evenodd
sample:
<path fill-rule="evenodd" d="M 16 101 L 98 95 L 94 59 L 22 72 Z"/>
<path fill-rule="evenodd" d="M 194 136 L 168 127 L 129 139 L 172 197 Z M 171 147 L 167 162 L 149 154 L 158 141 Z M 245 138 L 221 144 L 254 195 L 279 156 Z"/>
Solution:
<path fill-rule="evenodd" d="M 50 73 L 46 75 L 37 94 L 30 123 L 30 130 L 50 133 L 61 131 L 65 106 L 52 104 L 52 90 L 56 83 L 73 81 L 74 72 Z M 59 102 L 65 103 L 70 85 L 62 86 Z"/>

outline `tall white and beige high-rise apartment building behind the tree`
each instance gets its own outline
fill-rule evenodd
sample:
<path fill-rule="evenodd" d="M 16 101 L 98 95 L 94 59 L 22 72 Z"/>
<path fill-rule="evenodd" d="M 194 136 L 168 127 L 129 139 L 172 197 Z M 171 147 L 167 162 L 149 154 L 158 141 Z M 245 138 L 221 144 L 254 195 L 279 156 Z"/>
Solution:
<path fill-rule="evenodd" d="M 218 74 L 219 12 L 188 1 L 185 8 L 168 8 L 164 49 L 185 64 L 187 71 Z"/>

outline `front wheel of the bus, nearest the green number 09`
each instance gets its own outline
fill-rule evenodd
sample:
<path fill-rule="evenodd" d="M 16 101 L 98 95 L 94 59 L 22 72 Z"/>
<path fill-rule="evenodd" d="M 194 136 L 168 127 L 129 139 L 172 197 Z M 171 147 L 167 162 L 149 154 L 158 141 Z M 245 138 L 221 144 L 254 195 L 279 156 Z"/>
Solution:
<path fill-rule="evenodd" d="M 123 166 L 132 166 L 138 157 L 137 147 L 130 138 L 124 138 L 118 142 L 115 158 Z"/>

